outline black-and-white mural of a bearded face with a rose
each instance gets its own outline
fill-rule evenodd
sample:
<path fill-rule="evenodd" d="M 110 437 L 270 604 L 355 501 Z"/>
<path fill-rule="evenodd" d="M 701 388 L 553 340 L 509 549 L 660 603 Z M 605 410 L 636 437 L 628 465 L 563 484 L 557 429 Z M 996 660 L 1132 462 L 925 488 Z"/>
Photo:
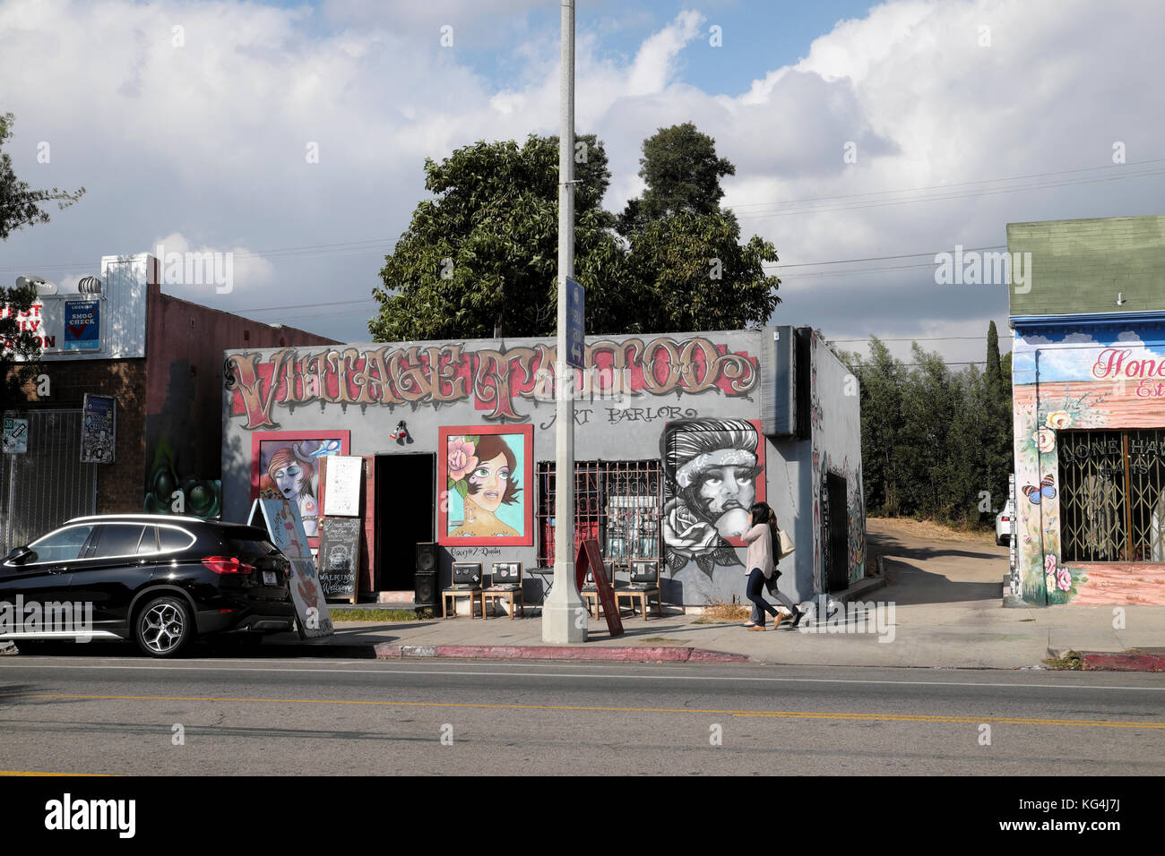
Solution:
<path fill-rule="evenodd" d="M 764 438 L 749 419 L 680 419 L 659 440 L 664 462 L 663 539 L 672 573 L 694 563 L 711 580 L 741 565 L 735 546 L 749 507 L 764 501 Z"/>

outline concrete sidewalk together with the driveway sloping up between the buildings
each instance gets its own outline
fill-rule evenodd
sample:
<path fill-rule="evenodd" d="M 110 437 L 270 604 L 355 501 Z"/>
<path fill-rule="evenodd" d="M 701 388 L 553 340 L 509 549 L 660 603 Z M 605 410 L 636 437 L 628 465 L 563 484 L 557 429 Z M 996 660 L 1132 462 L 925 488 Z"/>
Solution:
<path fill-rule="evenodd" d="M 622 659 L 690 659 L 692 652 L 721 652 L 768 664 L 1022 668 L 1040 666 L 1045 658 L 1067 651 L 1122 653 L 1165 641 L 1165 607 L 1123 607 L 1123 628 L 1114 627 L 1121 614 L 1111 607 L 1004 609 L 1007 547 L 995 546 L 989 537 L 960 538 L 910 521 L 871 519 L 868 543 L 870 553 L 883 557 L 885 586 L 868 592 L 862 601 L 883 606 L 847 615 L 843 623 L 797 630 L 786 623 L 777 631 L 770 624 L 762 634 L 746 630 L 743 622 L 673 611 L 647 621 L 624 617 L 626 632 L 610 638 L 606 622 L 591 618 L 584 648 L 638 649 L 629 656 L 595 655 Z M 303 643 L 292 634 L 281 634 L 264 648 L 274 651 L 288 645 L 288 653 L 343 651 L 369 657 L 374 656 L 372 646 L 382 643 L 381 656 L 400 656 L 395 646 L 419 646 L 415 652 L 436 656 L 438 646 L 446 646 L 446 652 L 459 652 L 454 656 L 506 657 L 504 649 L 543 644 L 539 617 L 510 621 L 504 615 L 485 620 L 463 615 L 336 627 L 336 635 L 326 639 Z M 863 632 L 854 632 L 859 629 Z M 690 651 L 661 653 L 665 649 Z M 562 651 L 560 656 L 580 658 L 579 652 Z"/>

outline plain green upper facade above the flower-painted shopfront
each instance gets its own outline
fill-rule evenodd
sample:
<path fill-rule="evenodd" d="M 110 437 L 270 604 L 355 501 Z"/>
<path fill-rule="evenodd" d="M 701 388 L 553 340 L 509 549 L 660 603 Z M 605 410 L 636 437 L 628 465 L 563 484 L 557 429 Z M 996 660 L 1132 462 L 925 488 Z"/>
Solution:
<path fill-rule="evenodd" d="M 1165 215 L 1009 222 L 1008 250 L 1031 253 L 1012 316 L 1165 310 Z"/>

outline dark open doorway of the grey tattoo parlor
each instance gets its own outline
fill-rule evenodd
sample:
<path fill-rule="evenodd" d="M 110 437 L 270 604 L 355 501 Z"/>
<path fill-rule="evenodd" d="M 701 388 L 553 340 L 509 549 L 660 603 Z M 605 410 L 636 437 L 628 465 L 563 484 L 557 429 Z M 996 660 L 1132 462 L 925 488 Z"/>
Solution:
<path fill-rule="evenodd" d="M 417 544 L 436 540 L 432 454 L 379 454 L 375 464 L 377 592 L 411 592 Z"/>

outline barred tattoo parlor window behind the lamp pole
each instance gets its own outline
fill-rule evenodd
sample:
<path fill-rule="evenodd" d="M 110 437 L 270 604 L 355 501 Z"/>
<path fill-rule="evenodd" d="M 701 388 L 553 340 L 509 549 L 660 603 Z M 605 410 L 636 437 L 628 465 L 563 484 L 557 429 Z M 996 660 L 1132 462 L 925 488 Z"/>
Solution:
<path fill-rule="evenodd" d="M 555 465 L 538 464 L 538 564 L 555 564 Z M 658 461 L 578 461 L 574 546 L 596 539 L 605 559 L 659 559 Z"/>

